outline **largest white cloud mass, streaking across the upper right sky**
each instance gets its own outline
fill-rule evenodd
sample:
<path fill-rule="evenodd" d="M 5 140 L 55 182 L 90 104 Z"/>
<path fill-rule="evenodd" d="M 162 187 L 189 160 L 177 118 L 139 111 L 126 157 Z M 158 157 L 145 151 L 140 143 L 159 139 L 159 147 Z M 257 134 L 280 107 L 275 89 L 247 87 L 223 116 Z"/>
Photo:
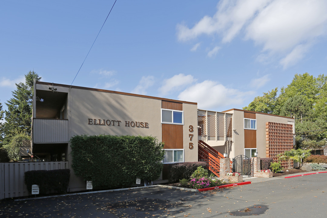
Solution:
<path fill-rule="evenodd" d="M 326 11 L 326 0 L 222 0 L 213 16 L 205 15 L 193 27 L 178 24 L 177 38 L 185 42 L 200 35 L 218 35 L 226 43 L 241 35 L 262 46 L 258 60 L 282 57 L 280 63 L 286 68 L 326 36 Z"/>

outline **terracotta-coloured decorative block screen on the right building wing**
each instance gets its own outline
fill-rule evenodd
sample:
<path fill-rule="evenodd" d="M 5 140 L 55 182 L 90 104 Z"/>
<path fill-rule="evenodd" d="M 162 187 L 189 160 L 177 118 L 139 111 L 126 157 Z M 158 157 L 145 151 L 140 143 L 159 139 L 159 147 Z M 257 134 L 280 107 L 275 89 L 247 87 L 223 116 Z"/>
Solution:
<path fill-rule="evenodd" d="M 266 157 L 278 161 L 277 155 L 293 149 L 293 129 L 290 124 L 266 123 Z M 281 160 L 284 168 L 288 167 L 287 160 Z M 293 167 L 293 163 L 291 163 Z"/>

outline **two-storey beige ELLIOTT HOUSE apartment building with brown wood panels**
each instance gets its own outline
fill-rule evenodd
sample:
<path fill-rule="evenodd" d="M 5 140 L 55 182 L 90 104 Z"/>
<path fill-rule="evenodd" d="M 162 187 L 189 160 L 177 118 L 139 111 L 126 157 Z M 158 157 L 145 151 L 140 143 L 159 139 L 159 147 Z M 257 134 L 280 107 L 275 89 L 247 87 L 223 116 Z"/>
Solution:
<path fill-rule="evenodd" d="M 31 151 L 44 161 L 72 161 L 74 135 L 155 136 L 164 142 L 163 173 L 177 162 L 217 162 L 238 155 L 261 158 L 290 150 L 295 144 L 294 119 L 254 111 L 198 109 L 197 103 L 166 98 L 34 81 Z M 24 153 L 24 152 L 23 152 Z M 226 155 L 227 154 L 227 155 Z M 31 153 L 26 153 L 30 159 Z M 215 168 L 215 169 L 213 169 Z M 86 183 L 71 169 L 69 192 Z"/>

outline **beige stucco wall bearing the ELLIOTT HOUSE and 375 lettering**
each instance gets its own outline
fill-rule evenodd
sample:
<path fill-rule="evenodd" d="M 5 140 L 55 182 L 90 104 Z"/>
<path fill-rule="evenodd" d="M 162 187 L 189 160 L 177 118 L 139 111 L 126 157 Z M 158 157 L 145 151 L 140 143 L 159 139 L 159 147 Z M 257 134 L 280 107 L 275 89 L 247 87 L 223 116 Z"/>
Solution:
<path fill-rule="evenodd" d="M 65 106 L 68 117 L 65 118 L 69 120 L 69 138 L 81 134 L 151 135 L 162 141 L 161 99 L 58 85 L 56 88 L 57 92 L 68 93 Z M 37 84 L 36 89 L 49 91 L 49 85 Z M 183 111 L 184 160 L 198 161 L 197 105 L 183 103 Z M 110 125 L 95 125 L 94 119 L 96 123 L 110 123 Z M 143 122 L 148 127 L 132 127 L 130 122 Z M 193 126 L 193 132 L 189 131 L 189 126 Z M 189 134 L 194 134 L 192 141 Z M 189 149 L 189 143 L 193 143 L 193 149 Z M 70 152 L 71 148 L 68 145 L 67 154 Z M 72 163 L 70 155 L 67 156 L 67 160 Z M 69 185 L 71 192 L 84 190 L 85 186 L 82 178 L 71 174 Z"/>

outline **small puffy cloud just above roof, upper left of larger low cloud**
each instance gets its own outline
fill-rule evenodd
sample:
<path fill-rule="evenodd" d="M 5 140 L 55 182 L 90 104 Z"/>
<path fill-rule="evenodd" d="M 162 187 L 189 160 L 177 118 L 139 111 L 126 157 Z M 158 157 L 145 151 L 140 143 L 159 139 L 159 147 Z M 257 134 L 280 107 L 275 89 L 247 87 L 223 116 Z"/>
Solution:
<path fill-rule="evenodd" d="M 181 90 L 187 85 L 196 81 L 192 75 L 178 74 L 163 81 L 163 86 L 159 88 L 161 95 L 165 95 L 171 91 Z"/>

